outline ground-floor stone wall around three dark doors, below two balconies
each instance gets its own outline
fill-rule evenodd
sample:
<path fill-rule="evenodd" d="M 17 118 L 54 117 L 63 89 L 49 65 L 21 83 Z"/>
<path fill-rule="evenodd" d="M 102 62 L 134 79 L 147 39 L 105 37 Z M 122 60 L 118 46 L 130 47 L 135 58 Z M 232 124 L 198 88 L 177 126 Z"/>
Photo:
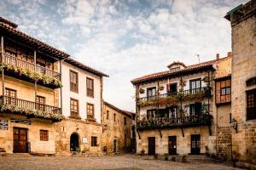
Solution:
<path fill-rule="evenodd" d="M 160 138 L 160 132 L 162 138 Z M 155 137 L 155 153 L 164 155 L 168 153 L 168 137 L 177 136 L 177 154 L 190 154 L 191 134 L 201 135 L 201 153 L 206 153 L 206 146 L 209 149 L 209 153 L 216 153 L 216 136 L 211 136 L 209 128 L 207 126 L 202 127 L 187 127 L 177 129 L 165 129 L 165 130 L 147 130 L 137 133 L 137 154 L 140 154 L 142 150 L 148 154 L 148 137 Z M 139 136 L 141 139 L 139 139 Z"/>

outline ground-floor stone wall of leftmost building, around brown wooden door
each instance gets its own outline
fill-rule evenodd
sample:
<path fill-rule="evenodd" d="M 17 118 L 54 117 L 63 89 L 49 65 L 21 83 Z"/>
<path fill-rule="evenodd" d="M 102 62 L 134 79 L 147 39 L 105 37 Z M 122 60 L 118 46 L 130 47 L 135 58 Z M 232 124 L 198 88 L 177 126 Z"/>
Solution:
<path fill-rule="evenodd" d="M 30 125 L 24 123 L 10 122 L 11 119 L 31 122 Z M 14 150 L 14 127 L 27 129 L 27 142 L 31 144 L 31 152 L 39 154 L 55 154 L 55 129 L 51 121 L 44 119 L 26 119 L 26 116 L 12 114 L 0 114 L 0 120 L 8 121 L 8 130 L 0 129 L 0 148 L 4 148 L 7 153 Z M 40 130 L 48 130 L 49 140 L 40 140 Z"/>

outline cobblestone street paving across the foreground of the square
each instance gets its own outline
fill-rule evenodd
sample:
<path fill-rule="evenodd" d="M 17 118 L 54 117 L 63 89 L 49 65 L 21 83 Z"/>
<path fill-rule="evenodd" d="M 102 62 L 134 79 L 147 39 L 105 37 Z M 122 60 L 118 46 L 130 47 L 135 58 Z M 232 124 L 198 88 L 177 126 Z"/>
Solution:
<path fill-rule="evenodd" d="M 220 163 L 181 163 L 176 161 L 145 160 L 146 157 L 133 155 L 101 157 L 41 157 L 41 156 L 0 156 L 0 169 L 239 169 Z"/>

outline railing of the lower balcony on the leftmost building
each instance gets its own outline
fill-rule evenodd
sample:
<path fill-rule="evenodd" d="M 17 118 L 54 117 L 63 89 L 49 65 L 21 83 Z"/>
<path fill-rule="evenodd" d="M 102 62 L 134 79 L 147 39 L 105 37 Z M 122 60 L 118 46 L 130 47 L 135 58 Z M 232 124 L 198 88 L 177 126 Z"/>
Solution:
<path fill-rule="evenodd" d="M 2 110 L 11 110 L 13 112 L 26 112 L 26 114 L 41 111 L 42 115 L 51 116 L 60 115 L 61 108 L 52 105 L 39 104 L 25 99 L 17 99 L 9 96 L 0 96 L 0 107 Z"/>

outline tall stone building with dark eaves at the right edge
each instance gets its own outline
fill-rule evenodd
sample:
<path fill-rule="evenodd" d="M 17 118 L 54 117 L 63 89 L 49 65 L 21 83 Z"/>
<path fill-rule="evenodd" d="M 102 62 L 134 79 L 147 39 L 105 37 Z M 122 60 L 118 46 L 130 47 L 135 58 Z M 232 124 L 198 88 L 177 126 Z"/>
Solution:
<path fill-rule="evenodd" d="M 233 158 L 256 164 L 256 1 L 225 16 L 232 30 Z"/>

